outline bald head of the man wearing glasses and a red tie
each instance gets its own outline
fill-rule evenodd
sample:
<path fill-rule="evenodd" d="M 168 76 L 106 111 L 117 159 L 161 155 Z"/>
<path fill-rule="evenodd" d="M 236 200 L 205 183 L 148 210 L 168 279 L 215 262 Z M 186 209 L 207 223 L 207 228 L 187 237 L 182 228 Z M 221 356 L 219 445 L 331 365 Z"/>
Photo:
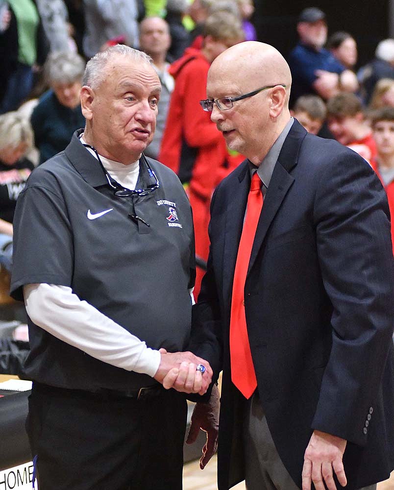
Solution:
<path fill-rule="evenodd" d="M 211 120 L 227 146 L 259 165 L 290 121 L 289 65 L 272 46 L 255 41 L 236 44 L 211 64 L 207 97 L 232 106 L 213 106 Z M 219 108 L 221 107 L 221 108 Z M 264 135 L 264 138 L 262 138 Z"/>

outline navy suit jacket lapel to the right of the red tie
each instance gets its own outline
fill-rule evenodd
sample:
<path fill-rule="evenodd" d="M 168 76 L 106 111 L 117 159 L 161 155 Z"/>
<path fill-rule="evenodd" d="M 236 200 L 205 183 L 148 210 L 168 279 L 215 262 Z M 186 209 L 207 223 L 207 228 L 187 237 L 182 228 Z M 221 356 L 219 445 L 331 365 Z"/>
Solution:
<path fill-rule="evenodd" d="M 294 182 L 294 177 L 289 172 L 296 166 L 298 152 L 306 134 L 306 130 L 295 120 L 272 172 L 250 254 L 248 272 L 253 267 L 272 220 Z"/>

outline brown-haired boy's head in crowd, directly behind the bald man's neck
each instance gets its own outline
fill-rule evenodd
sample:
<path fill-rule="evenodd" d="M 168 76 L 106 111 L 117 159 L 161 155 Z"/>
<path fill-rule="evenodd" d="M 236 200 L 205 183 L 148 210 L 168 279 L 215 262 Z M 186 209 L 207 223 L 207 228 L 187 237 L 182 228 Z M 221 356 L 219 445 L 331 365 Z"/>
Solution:
<path fill-rule="evenodd" d="M 324 123 L 326 108 L 317 95 L 304 95 L 297 98 L 292 116 L 304 126 L 308 133 L 318 134 Z"/>

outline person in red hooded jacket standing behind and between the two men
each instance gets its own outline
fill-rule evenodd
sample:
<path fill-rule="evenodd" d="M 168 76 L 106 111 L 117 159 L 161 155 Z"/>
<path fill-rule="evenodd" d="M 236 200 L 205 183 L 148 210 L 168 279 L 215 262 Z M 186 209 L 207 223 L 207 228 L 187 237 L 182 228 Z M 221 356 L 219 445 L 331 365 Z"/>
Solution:
<path fill-rule="evenodd" d="M 208 222 L 212 193 L 223 176 L 240 163 L 229 155 L 222 133 L 201 110 L 206 98 L 207 73 L 212 61 L 225 49 L 243 40 L 242 25 L 228 12 L 212 14 L 204 27 L 201 50 L 188 48 L 169 72 L 175 79 L 159 161 L 179 176 L 193 209 L 196 255 L 206 260 L 209 251 Z M 242 160 L 244 158 L 242 157 Z M 231 167 L 231 169 L 229 169 Z M 197 269 L 195 296 L 203 271 Z"/>

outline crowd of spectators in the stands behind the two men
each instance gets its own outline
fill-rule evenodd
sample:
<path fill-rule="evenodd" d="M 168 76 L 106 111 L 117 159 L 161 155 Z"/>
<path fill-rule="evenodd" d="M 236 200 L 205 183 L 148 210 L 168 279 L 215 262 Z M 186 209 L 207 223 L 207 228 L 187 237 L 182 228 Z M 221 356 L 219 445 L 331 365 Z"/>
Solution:
<path fill-rule="evenodd" d="M 252 0 L 0 0 L 2 256 L 12 245 L 12 209 L 29 172 L 84 126 L 79 90 L 86 61 L 108 46 L 127 44 L 151 56 L 161 80 L 156 134 L 146 154 L 184 184 L 203 263 L 210 198 L 243 155 L 226 148 L 198 101 L 206 97 L 215 57 L 235 43 L 257 40 L 253 12 Z M 343 27 L 328 36 L 324 12 L 300 12 L 299 42 L 283 53 L 293 76 L 292 115 L 307 131 L 335 138 L 368 160 L 393 208 L 394 39 L 382 39 L 375 57 L 360 67 L 357 39 L 351 26 Z M 33 145 L 38 157 L 29 153 L 30 161 L 25 155 Z"/>

